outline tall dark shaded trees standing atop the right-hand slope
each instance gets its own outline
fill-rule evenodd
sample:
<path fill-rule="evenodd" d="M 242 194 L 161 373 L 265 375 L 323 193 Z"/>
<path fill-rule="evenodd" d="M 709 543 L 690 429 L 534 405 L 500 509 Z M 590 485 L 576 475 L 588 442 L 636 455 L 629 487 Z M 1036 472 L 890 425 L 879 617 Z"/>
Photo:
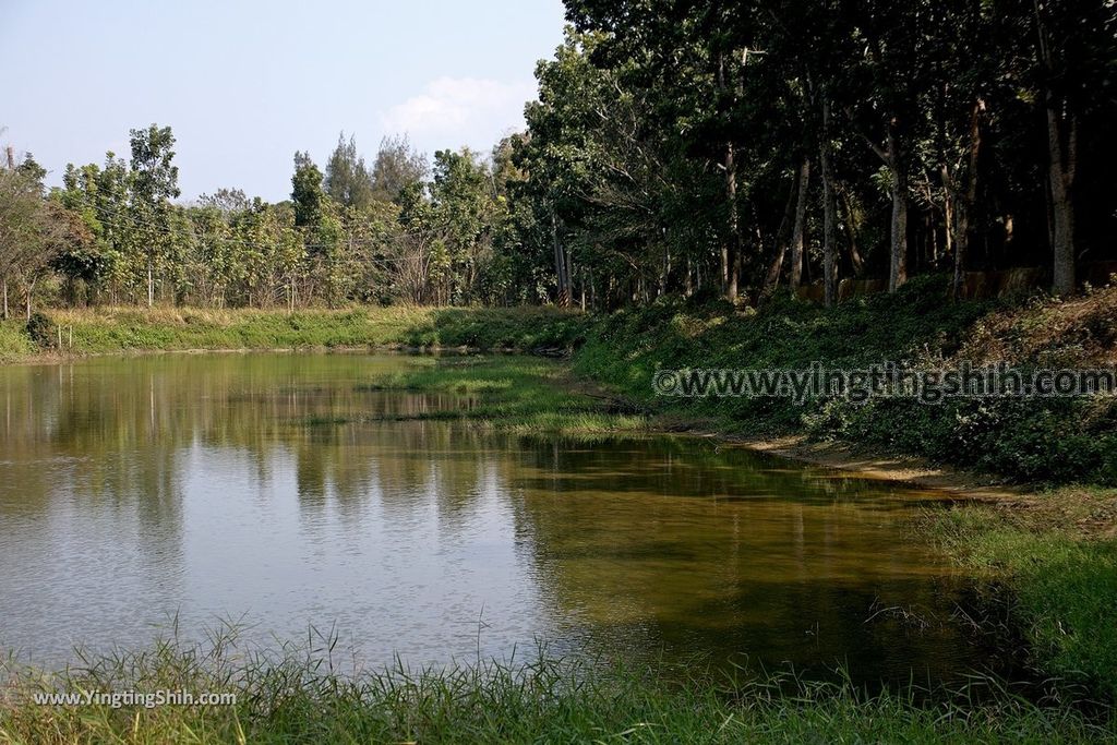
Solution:
<path fill-rule="evenodd" d="M 527 170 L 612 302 L 1117 258 L 1111 0 L 566 8 Z"/>

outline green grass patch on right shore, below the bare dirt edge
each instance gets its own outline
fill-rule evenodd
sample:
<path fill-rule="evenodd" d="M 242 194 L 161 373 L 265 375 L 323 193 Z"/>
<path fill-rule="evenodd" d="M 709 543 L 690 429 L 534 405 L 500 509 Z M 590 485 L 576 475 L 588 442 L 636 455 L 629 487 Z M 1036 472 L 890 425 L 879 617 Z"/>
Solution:
<path fill-rule="evenodd" d="M 1117 490 L 1063 488 L 935 516 L 945 548 L 987 581 L 1047 675 L 1117 700 Z"/>

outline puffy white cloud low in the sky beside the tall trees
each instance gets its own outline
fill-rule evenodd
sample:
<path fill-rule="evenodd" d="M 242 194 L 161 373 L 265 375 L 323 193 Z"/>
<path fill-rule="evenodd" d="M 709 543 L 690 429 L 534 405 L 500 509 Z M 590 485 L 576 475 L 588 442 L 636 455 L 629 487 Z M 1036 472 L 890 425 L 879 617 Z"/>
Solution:
<path fill-rule="evenodd" d="M 488 147 L 524 126 L 524 104 L 535 97 L 532 80 L 440 77 L 380 117 L 385 133 L 407 133 L 439 147 Z"/>

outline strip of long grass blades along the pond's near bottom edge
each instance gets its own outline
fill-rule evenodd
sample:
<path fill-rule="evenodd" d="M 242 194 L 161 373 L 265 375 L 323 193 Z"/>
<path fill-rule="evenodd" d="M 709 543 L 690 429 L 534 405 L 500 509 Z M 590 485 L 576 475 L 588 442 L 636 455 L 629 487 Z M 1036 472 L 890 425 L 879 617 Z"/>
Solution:
<path fill-rule="evenodd" d="M 445 669 L 362 671 L 336 638 L 302 648 L 245 648 L 229 633 L 141 652 L 86 657 L 44 674 L 9 663 L 0 743 L 1078 743 L 1117 735 L 1111 718 L 1038 706 L 977 681 L 917 703 L 918 691 L 866 695 L 793 677 L 696 675 L 548 659 Z M 992 684 L 992 688 L 990 688 Z M 226 706 L 50 706 L 36 694 L 229 693 Z"/>

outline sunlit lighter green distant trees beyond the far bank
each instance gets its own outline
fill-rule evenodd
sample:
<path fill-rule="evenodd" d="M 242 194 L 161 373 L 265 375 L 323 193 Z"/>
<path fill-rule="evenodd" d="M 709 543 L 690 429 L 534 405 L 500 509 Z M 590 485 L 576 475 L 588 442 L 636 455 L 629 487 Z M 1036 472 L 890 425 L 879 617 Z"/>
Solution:
<path fill-rule="evenodd" d="M 290 308 L 538 297 L 507 270 L 502 175 L 468 150 L 436 153 L 431 170 L 405 137 L 389 139 L 369 166 L 343 136 L 324 172 L 295 154 L 289 200 L 221 189 L 178 204 L 174 142 L 170 127 L 133 130 L 130 160 L 69 165 L 49 193 L 34 157 L 17 165 L 9 154 L 0 199 L 27 209 L 0 214 L 19 228 L 4 231 L 19 246 L 4 246 L 4 296 L 18 294 L 28 314 L 36 292 L 69 305 Z M 67 240 L 25 229 L 36 211 L 42 225 L 66 216 Z"/>

